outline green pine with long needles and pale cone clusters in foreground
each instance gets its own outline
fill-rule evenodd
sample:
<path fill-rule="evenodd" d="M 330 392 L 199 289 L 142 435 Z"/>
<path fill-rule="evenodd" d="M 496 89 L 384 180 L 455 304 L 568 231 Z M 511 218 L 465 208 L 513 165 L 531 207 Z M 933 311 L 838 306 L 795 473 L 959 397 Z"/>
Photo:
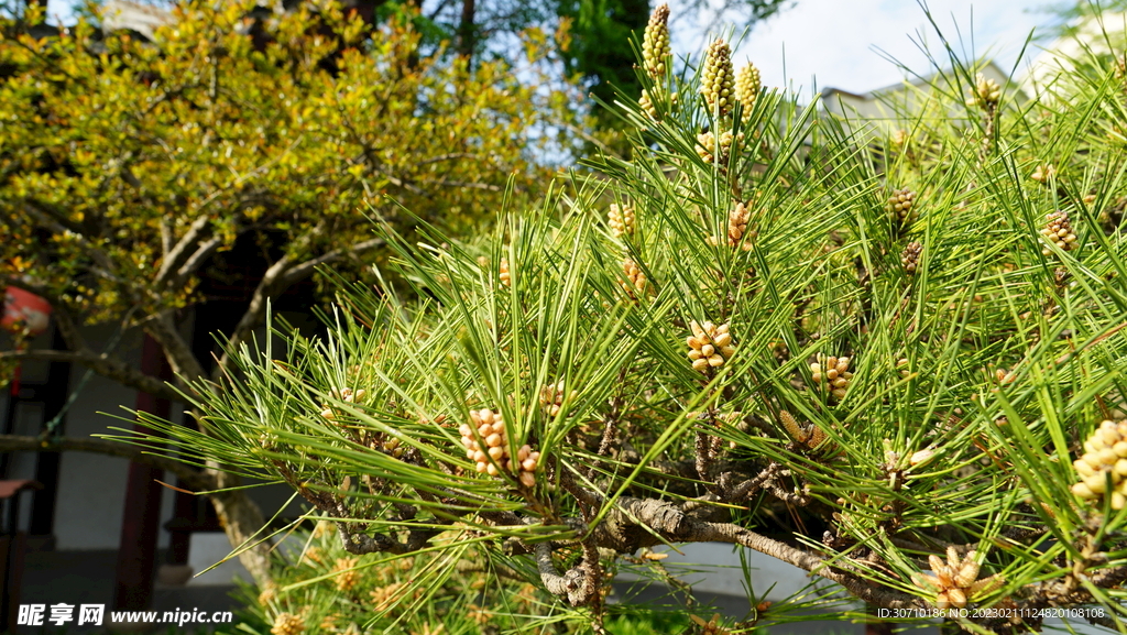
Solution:
<path fill-rule="evenodd" d="M 616 571 L 713 541 L 897 618 L 1127 630 L 1115 65 L 1019 107 L 952 59 L 937 106 L 857 130 L 724 41 L 687 81 L 646 51 L 631 160 L 488 240 L 385 230 L 433 301 L 350 286 L 178 449 L 289 483 L 361 567 L 472 543 L 556 597 L 529 628 L 600 630 Z M 758 599 L 737 627 L 811 606 Z"/>

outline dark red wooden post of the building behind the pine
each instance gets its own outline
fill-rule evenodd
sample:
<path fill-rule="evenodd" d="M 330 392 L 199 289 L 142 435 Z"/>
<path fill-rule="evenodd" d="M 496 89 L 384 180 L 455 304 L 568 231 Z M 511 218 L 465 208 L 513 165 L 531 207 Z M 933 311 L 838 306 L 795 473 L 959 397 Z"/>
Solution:
<path fill-rule="evenodd" d="M 163 351 L 149 335 L 144 336 L 141 347 L 141 371 L 162 379 L 171 378 Z M 171 404 L 148 393 L 139 393 L 136 411 L 168 418 Z M 133 430 L 148 434 L 153 432 L 141 422 L 134 423 Z M 152 600 L 161 496 L 161 486 L 156 479 L 161 476 L 161 469 L 130 462 L 122 539 L 117 552 L 117 589 L 114 594 L 114 608 L 119 610 L 143 610 L 149 608 Z"/>

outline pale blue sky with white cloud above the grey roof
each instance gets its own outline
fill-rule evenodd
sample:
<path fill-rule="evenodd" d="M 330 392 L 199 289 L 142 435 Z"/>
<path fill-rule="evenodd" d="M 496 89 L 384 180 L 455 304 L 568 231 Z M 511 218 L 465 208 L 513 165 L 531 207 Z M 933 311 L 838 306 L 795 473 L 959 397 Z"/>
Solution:
<path fill-rule="evenodd" d="M 952 46 L 965 50 L 965 56 L 990 54 L 1009 71 L 1029 33 L 1044 32 L 1057 20 L 1044 10 L 1048 2 L 929 0 L 928 6 L 943 35 Z M 691 16 L 677 14 L 676 0 L 669 6 L 674 20 L 691 21 Z M 700 28 L 673 26 L 678 52 L 699 50 Z M 815 78 L 819 90 L 833 87 L 864 92 L 906 77 L 886 56 L 926 73 L 930 62 L 922 44 L 946 59 L 935 29 L 915 0 L 798 0 L 791 9 L 756 25 L 735 51 L 734 61 L 739 65 L 751 60 L 760 68 L 765 86 L 801 88 L 807 97 Z M 1035 42 L 1023 60 L 1039 52 Z"/>

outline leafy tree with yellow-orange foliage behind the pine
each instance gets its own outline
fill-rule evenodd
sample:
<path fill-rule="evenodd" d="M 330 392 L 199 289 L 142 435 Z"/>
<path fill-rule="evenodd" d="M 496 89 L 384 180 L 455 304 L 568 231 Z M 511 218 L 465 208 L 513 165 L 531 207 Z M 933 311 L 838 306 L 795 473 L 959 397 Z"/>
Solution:
<path fill-rule="evenodd" d="M 535 200 L 551 174 L 541 159 L 559 150 L 544 130 L 577 122 L 559 108 L 566 83 L 523 83 L 500 61 L 419 56 L 405 21 L 373 30 L 332 6 L 300 9 L 258 42 L 242 28 L 248 9 L 177 7 L 151 44 L 101 38 L 86 21 L 0 42 L 0 286 L 50 300 L 68 346 L 0 351 L 8 370 L 70 361 L 178 399 L 80 327 L 140 327 L 179 389 L 218 378 L 229 358 L 212 370 L 180 324 L 202 285 L 232 275 L 232 254 L 257 253 L 249 272 L 234 270 L 251 290 L 222 333 L 240 346 L 272 299 L 319 266 L 371 277 L 384 256 L 365 213 L 410 233 L 402 204 L 464 231 L 506 197 Z M 232 540 L 258 529 L 241 493 L 216 500 Z"/>

